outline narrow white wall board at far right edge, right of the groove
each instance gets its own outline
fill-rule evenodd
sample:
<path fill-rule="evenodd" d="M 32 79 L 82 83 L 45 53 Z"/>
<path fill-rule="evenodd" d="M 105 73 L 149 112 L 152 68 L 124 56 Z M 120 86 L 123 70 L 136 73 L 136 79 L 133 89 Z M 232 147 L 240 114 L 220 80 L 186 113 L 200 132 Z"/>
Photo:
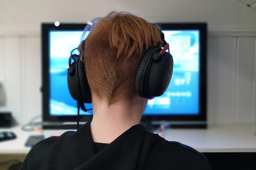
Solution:
<path fill-rule="evenodd" d="M 238 37 L 236 123 L 255 122 L 253 111 L 254 37 Z"/>

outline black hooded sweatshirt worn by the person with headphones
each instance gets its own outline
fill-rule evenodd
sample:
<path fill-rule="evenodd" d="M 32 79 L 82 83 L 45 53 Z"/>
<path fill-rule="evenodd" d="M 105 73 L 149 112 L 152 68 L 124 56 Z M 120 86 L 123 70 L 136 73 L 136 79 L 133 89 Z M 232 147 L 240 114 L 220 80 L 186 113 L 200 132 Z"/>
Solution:
<path fill-rule="evenodd" d="M 90 122 L 37 143 L 20 170 L 210 170 L 207 158 L 134 125 L 109 144 L 94 143 Z"/>

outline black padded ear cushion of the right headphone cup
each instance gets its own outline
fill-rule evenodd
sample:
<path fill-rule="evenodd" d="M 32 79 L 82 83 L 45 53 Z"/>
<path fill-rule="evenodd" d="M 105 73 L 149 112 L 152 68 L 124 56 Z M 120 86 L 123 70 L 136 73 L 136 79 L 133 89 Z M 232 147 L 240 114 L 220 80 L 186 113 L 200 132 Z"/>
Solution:
<path fill-rule="evenodd" d="M 150 62 L 155 51 L 161 48 L 150 48 L 148 49 L 143 57 L 141 58 L 141 62 L 139 64 L 136 79 L 135 79 L 135 90 L 137 94 L 143 98 L 146 97 L 146 79 L 147 72 L 150 66 Z"/>

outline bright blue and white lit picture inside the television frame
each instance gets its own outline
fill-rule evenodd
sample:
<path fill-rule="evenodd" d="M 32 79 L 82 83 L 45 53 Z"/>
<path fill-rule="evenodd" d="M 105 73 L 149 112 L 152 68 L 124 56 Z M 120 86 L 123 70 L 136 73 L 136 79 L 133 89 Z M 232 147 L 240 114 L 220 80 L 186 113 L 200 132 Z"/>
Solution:
<path fill-rule="evenodd" d="M 200 31 L 163 30 L 163 33 L 173 56 L 173 74 L 166 92 L 162 96 L 148 100 L 143 114 L 198 115 L 200 108 Z M 50 31 L 50 116 L 77 115 L 76 101 L 68 90 L 67 69 L 70 52 L 78 47 L 82 34 L 83 31 Z M 92 104 L 85 104 L 85 107 L 92 108 Z M 91 115 L 93 111 L 84 112 L 80 109 L 80 114 Z"/>

